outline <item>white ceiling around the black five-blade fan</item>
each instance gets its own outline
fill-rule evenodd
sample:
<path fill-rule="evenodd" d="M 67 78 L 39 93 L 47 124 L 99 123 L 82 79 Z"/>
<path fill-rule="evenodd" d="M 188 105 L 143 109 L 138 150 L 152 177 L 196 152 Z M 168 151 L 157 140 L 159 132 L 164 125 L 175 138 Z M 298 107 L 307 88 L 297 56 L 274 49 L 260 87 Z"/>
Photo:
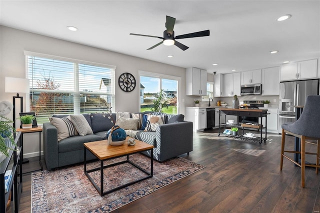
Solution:
<path fill-rule="evenodd" d="M 284 14 L 292 17 L 275 20 Z M 210 36 L 179 39 L 189 46 L 182 51 L 146 50 L 161 40 L 129 35 L 162 37 L 165 15 L 176 18 L 175 35 L 209 29 Z M 319 0 L 0 0 L 0 24 L 209 73 L 320 56 Z"/>

